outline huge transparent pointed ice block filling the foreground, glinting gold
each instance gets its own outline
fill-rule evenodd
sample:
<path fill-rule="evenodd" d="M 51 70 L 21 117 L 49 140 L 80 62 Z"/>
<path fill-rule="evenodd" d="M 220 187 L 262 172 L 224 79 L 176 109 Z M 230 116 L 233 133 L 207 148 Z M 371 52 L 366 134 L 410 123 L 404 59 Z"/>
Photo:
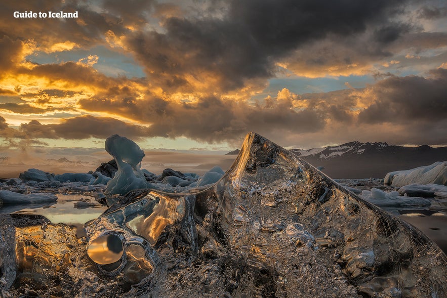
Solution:
<path fill-rule="evenodd" d="M 436 244 L 254 133 L 214 185 L 134 190 L 87 238 L 35 216 L 0 224 L 4 296 L 447 296 Z"/>

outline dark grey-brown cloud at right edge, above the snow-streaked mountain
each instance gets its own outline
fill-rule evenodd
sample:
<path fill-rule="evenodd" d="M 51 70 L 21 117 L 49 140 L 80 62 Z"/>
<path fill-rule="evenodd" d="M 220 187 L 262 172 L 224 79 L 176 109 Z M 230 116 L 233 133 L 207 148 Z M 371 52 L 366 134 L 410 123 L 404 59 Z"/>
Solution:
<path fill-rule="evenodd" d="M 431 71 L 430 77 L 389 77 L 371 87 L 377 98 L 359 114 L 365 123 L 434 122 L 447 117 L 447 69 Z"/>

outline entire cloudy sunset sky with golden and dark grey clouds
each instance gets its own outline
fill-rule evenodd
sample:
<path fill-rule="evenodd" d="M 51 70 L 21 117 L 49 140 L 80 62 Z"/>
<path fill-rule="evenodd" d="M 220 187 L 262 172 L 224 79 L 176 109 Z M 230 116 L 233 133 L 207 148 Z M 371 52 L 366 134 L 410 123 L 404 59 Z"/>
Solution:
<path fill-rule="evenodd" d="M 0 2 L 0 155 L 113 134 L 232 150 L 249 132 L 447 145 L 447 2 Z"/>

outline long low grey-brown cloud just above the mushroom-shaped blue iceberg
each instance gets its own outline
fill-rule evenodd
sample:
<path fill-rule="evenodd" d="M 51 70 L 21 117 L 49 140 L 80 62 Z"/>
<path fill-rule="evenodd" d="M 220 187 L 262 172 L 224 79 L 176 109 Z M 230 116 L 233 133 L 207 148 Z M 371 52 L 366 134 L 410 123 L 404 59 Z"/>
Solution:
<path fill-rule="evenodd" d="M 22 123 L 19 130 L 30 138 L 48 139 L 105 139 L 113 134 L 138 139 L 147 134 L 147 128 L 109 117 L 90 115 L 64 119 L 59 124 L 41 124 L 36 120 Z"/>

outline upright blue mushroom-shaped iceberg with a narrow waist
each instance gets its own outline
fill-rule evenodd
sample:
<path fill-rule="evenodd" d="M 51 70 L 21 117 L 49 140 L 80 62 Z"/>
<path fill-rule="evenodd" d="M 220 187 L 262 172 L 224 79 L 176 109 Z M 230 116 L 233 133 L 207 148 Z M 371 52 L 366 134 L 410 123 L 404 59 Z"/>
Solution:
<path fill-rule="evenodd" d="M 105 141 L 105 149 L 113 156 L 118 167 L 113 179 L 107 182 L 106 193 L 126 194 L 134 189 L 147 188 L 144 173 L 140 169 L 145 154 L 135 142 L 113 135 Z"/>

